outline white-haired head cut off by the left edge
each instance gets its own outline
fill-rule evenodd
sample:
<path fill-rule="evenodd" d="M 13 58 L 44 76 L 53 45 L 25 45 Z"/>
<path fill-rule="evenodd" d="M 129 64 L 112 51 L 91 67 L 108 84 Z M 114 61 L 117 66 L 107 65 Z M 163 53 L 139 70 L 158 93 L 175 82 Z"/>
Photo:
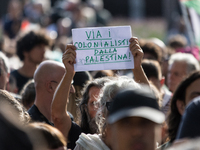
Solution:
<path fill-rule="evenodd" d="M 10 67 L 8 58 L 3 52 L 0 52 L 0 89 L 5 90 L 6 85 L 9 82 Z"/>

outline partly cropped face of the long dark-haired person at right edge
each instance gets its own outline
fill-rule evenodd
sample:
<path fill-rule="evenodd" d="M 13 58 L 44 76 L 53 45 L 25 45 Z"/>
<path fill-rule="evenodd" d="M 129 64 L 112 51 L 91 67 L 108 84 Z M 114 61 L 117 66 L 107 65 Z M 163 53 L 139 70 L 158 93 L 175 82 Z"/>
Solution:
<path fill-rule="evenodd" d="M 200 96 L 200 79 L 195 80 L 190 86 L 187 87 L 185 93 L 186 105 L 197 96 Z"/>

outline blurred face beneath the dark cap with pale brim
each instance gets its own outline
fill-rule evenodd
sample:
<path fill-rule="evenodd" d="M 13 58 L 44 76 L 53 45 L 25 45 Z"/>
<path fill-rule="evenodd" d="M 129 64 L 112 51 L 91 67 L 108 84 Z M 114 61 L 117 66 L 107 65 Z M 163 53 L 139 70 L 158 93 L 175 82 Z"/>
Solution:
<path fill-rule="evenodd" d="M 108 125 L 107 133 L 112 150 L 154 150 L 161 139 L 160 126 L 141 117 L 128 117 Z"/>

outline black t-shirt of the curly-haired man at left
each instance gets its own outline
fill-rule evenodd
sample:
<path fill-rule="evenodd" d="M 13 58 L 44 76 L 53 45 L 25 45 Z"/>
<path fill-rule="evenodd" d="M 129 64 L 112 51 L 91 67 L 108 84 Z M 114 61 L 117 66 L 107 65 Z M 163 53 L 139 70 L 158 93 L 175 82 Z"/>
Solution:
<path fill-rule="evenodd" d="M 11 76 L 13 76 L 16 79 L 18 93 L 21 92 L 23 86 L 33 78 L 28 78 L 23 75 L 21 75 L 17 70 L 14 70 L 10 73 Z"/>

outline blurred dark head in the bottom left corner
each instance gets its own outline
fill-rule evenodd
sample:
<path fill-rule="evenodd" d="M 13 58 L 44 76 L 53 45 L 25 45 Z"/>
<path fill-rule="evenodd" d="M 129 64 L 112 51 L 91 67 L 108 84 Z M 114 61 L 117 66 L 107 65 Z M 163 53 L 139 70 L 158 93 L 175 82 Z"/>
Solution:
<path fill-rule="evenodd" d="M 0 102 L 1 150 L 33 150 L 32 141 L 21 123 L 14 107 L 9 103 Z"/>

